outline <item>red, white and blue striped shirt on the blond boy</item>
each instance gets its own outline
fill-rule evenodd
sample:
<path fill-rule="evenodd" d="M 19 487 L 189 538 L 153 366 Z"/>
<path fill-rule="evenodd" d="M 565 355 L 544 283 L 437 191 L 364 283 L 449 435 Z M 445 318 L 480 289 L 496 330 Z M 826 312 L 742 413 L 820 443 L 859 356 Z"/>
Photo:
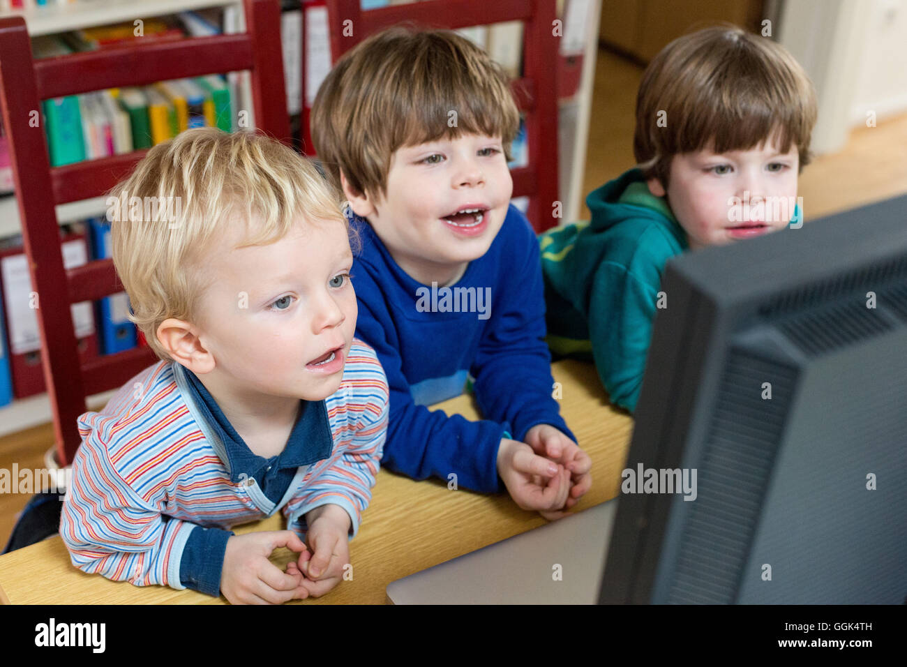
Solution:
<path fill-rule="evenodd" d="M 188 382 L 179 364 L 159 361 L 101 412 L 79 417 L 82 445 L 60 520 L 76 567 L 183 589 L 180 557 L 196 525 L 227 529 L 281 510 L 304 537 L 307 512 L 327 504 L 346 509 L 356 535 L 387 431 L 387 381 L 372 348 L 354 339 L 340 387 L 325 401 L 330 456 L 299 467 L 278 503 L 252 477 L 231 482 L 223 443 Z"/>

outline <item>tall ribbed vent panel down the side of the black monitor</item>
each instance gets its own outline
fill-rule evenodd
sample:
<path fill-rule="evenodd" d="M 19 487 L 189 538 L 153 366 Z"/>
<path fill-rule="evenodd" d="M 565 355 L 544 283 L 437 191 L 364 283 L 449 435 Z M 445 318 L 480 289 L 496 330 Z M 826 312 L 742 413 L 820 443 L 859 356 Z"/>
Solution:
<path fill-rule="evenodd" d="M 690 507 L 668 603 L 735 601 L 795 382 L 794 368 L 731 349 L 697 462 L 697 499 L 675 501 Z"/>

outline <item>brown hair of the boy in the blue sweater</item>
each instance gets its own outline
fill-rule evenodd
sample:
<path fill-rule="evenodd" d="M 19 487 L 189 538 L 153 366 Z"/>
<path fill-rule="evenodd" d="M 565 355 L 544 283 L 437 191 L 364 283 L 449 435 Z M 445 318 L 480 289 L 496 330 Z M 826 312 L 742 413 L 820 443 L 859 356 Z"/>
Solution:
<path fill-rule="evenodd" d="M 342 170 L 354 191 L 372 195 L 386 194 L 402 146 L 481 133 L 500 136 L 510 159 L 519 124 L 508 77 L 482 49 L 450 31 L 401 26 L 345 54 L 311 116 L 312 142 L 337 187 Z"/>

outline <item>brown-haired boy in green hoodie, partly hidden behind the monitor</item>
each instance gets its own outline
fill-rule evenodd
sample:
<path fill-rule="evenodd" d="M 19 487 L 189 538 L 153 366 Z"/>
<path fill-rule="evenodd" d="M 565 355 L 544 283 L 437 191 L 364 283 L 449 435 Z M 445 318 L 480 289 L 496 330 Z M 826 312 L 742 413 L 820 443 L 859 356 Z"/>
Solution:
<path fill-rule="evenodd" d="M 719 26 L 671 42 L 639 85 L 639 165 L 592 191 L 590 222 L 540 236 L 549 345 L 591 358 L 636 408 L 669 258 L 802 226 L 815 93 L 780 44 Z"/>

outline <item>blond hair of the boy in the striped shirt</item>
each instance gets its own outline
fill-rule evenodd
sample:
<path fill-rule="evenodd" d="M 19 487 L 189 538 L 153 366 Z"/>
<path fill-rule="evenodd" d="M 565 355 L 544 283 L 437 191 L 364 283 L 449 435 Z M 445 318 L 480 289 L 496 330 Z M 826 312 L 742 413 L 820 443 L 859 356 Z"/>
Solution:
<path fill-rule="evenodd" d="M 226 225 L 246 225 L 238 247 L 278 240 L 300 217 L 346 225 L 337 192 L 311 162 L 251 131 L 181 132 L 151 148 L 109 194 L 112 258 L 129 319 L 162 359 L 171 356 L 157 329 L 169 318 L 199 321 L 210 286 L 201 264 Z"/>

